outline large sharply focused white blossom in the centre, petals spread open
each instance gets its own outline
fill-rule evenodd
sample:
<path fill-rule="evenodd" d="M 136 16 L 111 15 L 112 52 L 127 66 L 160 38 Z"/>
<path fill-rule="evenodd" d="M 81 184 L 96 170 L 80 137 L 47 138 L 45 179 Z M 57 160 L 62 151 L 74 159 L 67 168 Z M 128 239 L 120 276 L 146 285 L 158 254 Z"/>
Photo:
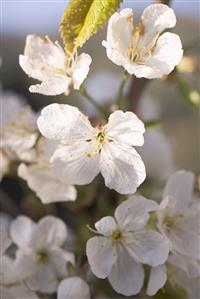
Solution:
<path fill-rule="evenodd" d="M 50 161 L 63 182 L 89 184 L 101 172 L 107 187 L 129 194 L 144 181 L 145 166 L 133 146 L 143 144 L 145 129 L 134 113 L 115 111 L 94 128 L 76 107 L 51 104 L 37 123 L 43 136 L 59 141 Z"/>

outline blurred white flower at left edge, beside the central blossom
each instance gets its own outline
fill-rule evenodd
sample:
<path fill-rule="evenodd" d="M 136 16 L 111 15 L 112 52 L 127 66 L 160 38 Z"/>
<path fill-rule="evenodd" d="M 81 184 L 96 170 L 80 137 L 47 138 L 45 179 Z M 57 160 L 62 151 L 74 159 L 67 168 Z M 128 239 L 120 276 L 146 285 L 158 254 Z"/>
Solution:
<path fill-rule="evenodd" d="M 8 171 L 10 160 L 32 161 L 35 158 L 34 145 L 39 132 L 36 114 L 25 104 L 23 98 L 5 92 L 0 98 L 1 115 L 1 168 Z"/>

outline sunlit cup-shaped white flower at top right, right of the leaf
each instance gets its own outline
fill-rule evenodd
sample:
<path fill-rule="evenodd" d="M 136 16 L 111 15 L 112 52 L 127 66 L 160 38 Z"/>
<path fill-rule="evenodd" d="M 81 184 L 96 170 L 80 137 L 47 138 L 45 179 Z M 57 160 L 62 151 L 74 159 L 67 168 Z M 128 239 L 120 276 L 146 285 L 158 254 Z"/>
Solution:
<path fill-rule="evenodd" d="M 183 54 L 178 35 L 165 32 L 176 24 L 174 11 L 164 4 L 145 8 L 138 26 L 133 26 L 133 11 L 123 9 L 108 23 L 107 56 L 136 77 L 160 78 L 169 74 Z"/>

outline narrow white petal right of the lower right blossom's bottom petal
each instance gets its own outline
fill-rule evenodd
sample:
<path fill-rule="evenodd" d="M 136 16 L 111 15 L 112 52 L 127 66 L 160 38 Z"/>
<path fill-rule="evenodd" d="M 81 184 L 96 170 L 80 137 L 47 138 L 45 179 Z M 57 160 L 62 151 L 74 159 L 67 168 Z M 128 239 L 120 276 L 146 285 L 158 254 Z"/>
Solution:
<path fill-rule="evenodd" d="M 166 266 L 160 265 L 157 267 L 152 267 L 147 285 L 147 295 L 154 296 L 158 292 L 158 290 L 160 290 L 165 285 L 166 281 Z"/>

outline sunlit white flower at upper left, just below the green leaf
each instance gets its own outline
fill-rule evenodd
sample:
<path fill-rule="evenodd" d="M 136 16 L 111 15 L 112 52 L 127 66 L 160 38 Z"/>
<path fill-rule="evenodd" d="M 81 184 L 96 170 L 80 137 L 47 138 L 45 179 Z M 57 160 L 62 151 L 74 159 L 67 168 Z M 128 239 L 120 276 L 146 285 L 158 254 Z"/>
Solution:
<path fill-rule="evenodd" d="M 70 85 L 79 89 L 89 72 L 91 57 L 82 53 L 67 57 L 58 42 L 53 43 L 48 37 L 28 35 L 24 55 L 19 56 L 19 64 L 30 77 L 42 81 L 30 86 L 30 92 L 44 95 L 68 94 Z"/>

